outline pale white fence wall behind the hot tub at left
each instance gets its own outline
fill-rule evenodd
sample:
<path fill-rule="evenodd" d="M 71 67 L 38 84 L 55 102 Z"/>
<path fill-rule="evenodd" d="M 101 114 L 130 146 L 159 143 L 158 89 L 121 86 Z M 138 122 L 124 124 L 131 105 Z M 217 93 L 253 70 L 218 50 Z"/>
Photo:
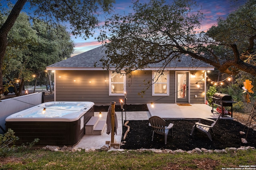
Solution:
<path fill-rule="evenodd" d="M 5 130 L 5 119 L 13 113 L 28 109 L 44 102 L 44 93 L 32 93 L 15 98 L 0 100 L 0 126 Z M 0 128 L 0 134 L 4 131 Z"/>

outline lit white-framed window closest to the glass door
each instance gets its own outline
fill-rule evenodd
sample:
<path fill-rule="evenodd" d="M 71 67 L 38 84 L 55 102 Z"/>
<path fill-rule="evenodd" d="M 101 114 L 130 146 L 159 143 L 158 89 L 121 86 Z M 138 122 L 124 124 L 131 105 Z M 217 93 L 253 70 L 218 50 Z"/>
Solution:
<path fill-rule="evenodd" d="M 169 71 L 153 71 L 152 74 L 152 96 L 169 95 Z"/>

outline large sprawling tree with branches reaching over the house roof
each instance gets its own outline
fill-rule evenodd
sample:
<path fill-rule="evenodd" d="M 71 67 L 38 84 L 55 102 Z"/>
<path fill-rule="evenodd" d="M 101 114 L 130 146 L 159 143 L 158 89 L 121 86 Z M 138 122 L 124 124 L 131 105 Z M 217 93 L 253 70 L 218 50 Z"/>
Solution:
<path fill-rule="evenodd" d="M 98 37 L 104 41 L 107 51 L 101 61 L 120 72 L 125 68 L 142 69 L 152 63 L 162 63 L 164 69 L 182 54 L 215 66 L 221 72 L 237 74 L 238 70 L 256 75 L 256 66 L 246 63 L 255 49 L 256 4 L 248 1 L 229 14 L 226 20 L 218 20 L 218 26 L 198 33 L 203 14 L 193 9 L 192 0 L 150 0 L 134 2 L 134 14 L 114 15 L 106 20 Z M 238 35 L 239 34 L 239 35 Z M 241 35 L 241 36 L 240 36 Z"/>

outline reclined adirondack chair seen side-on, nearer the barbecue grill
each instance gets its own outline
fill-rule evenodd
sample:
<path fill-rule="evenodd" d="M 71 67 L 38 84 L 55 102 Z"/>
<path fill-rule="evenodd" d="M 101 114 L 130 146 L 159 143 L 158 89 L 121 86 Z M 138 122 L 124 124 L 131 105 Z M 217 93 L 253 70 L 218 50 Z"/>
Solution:
<path fill-rule="evenodd" d="M 211 136 L 210 131 L 212 131 L 212 133 L 214 133 L 213 127 L 218 123 L 218 121 L 220 119 L 220 115 L 221 115 L 221 113 L 219 114 L 219 116 L 218 116 L 218 118 L 216 120 L 207 119 L 207 118 L 200 118 L 199 121 L 196 122 L 195 125 L 192 127 L 190 135 L 193 135 L 194 130 L 196 128 L 199 131 L 202 131 L 202 132 L 206 133 L 208 138 L 212 141 L 212 136 Z M 212 124 L 211 125 L 202 124 L 201 123 L 202 120 L 206 120 L 206 121 L 212 122 Z"/>

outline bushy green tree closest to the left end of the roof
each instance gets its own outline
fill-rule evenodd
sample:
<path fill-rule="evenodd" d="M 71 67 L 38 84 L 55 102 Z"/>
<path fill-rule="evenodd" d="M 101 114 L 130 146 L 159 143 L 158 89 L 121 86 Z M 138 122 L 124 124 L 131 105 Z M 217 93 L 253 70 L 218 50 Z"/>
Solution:
<path fill-rule="evenodd" d="M 74 51 L 74 43 L 66 27 L 48 25 L 44 21 L 36 20 L 33 28 L 38 32 L 38 45 L 31 46 L 32 55 L 29 66 L 35 73 L 35 83 L 40 78 L 40 73 L 44 72 L 46 66 L 62 61 L 70 57 Z M 46 72 L 48 75 L 50 93 L 52 93 L 51 75 L 52 72 Z"/>

